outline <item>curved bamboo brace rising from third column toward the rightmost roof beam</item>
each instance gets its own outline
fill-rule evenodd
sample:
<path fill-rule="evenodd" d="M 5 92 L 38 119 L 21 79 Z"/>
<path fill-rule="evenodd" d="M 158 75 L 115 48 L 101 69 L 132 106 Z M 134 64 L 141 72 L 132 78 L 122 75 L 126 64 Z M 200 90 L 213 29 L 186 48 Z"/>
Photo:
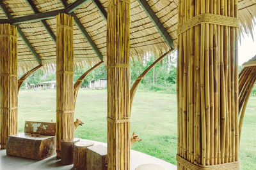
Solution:
<path fill-rule="evenodd" d="M 155 62 L 153 62 L 149 67 L 147 67 L 147 69 L 145 69 L 145 71 L 143 71 L 143 73 L 141 73 L 140 76 L 138 76 L 138 78 L 136 78 L 136 80 L 132 84 L 132 87 L 131 87 L 131 90 L 130 90 L 130 110 L 132 108 L 133 98 L 135 96 L 135 93 L 136 93 L 136 90 L 137 90 L 138 86 L 140 85 L 141 80 L 148 73 L 148 71 L 150 71 L 154 66 L 156 66 L 157 63 L 159 63 L 161 60 L 163 60 L 163 58 L 166 57 L 166 55 L 170 54 L 173 50 L 174 50 L 174 48 L 172 48 L 168 52 L 164 53 Z"/>

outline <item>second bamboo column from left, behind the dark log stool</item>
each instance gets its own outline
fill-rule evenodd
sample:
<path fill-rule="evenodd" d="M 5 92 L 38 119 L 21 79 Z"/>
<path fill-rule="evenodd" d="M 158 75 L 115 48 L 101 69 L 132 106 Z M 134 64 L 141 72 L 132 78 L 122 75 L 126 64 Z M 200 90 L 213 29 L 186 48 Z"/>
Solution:
<path fill-rule="evenodd" d="M 61 13 L 57 16 L 57 157 L 61 157 L 61 139 L 74 138 L 73 25 L 70 15 Z"/>

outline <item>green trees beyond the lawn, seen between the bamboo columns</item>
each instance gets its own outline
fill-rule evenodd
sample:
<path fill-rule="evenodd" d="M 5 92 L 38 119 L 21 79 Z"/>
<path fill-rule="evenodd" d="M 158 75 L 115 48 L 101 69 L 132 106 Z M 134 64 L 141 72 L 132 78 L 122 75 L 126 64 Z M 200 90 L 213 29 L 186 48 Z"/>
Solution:
<path fill-rule="evenodd" d="M 164 57 L 161 62 L 152 68 L 141 81 L 139 89 L 175 93 L 175 90 L 173 90 L 172 87 L 174 87 L 176 83 L 176 55 L 177 52 L 171 53 L 171 55 Z M 138 76 L 140 76 L 140 74 L 143 73 L 143 71 L 145 71 L 145 69 L 147 69 L 157 58 L 158 57 L 154 55 L 147 55 L 142 60 L 134 59 L 131 61 L 131 85 L 136 80 L 136 78 L 138 78 Z M 88 69 L 90 69 L 90 66 L 85 67 L 83 70 L 77 68 L 74 73 L 74 82 L 76 82 L 76 80 Z M 92 80 L 106 78 L 106 66 L 101 64 L 99 67 L 94 69 L 92 73 L 86 76 L 83 83 L 81 84 L 81 87 L 88 87 L 90 81 Z M 52 80 L 56 80 L 55 73 L 47 75 L 43 74 L 42 71 L 36 71 L 27 78 L 26 83 L 31 85 Z"/>

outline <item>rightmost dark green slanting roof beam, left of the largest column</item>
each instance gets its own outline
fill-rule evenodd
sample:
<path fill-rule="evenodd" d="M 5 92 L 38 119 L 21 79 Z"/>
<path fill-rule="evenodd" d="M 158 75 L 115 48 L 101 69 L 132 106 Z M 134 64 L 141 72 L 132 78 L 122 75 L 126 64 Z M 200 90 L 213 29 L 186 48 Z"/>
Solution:
<path fill-rule="evenodd" d="M 154 25 L 156 26 L 156 28 L 160 32 L 160 34 L 163 36 L 164 41 L 170 46 L 170 48 L 173 48 L 173 39 L 171 38 L 169 33 L 166 31 L 163 24 L 161 24 L 159 18 L 156 16 L 156 13 L 152 10 L 152 8 L 147 3 L 147 1 L 146 0 L 138 0 L 138 3 L 141 5 L 141 7 L 147 13 L 150 20 L 152 20 L 152 22 L 154 23 Z"/>

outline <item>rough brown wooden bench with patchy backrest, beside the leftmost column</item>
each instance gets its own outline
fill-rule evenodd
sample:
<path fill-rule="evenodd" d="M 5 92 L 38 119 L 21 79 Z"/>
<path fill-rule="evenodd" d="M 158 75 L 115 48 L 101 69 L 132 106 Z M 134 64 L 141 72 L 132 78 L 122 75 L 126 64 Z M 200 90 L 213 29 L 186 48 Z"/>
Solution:
<path fill-rule="evenodd" d="M 24 132 L 8 137 L 6 154 L 42 160 L 56 153 L 56 123 L 25 122 Z"/>

